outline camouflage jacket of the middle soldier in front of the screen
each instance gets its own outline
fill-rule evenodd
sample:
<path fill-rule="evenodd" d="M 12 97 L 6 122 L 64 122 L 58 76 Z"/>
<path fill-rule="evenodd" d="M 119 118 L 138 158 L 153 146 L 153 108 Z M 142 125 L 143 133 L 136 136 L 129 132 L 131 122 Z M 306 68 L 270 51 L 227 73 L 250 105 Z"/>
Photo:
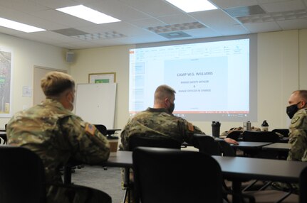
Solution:
<path fill-rule="evenodd" d="M 193 133 L 204 134 L 187 120 L 169 114 L 166 109 L 148 108 L 129 119 L 120 137 L 124 150 L 128 150 L 129 136 L 167 137 L 182 143 L 191 143 Z"/>

